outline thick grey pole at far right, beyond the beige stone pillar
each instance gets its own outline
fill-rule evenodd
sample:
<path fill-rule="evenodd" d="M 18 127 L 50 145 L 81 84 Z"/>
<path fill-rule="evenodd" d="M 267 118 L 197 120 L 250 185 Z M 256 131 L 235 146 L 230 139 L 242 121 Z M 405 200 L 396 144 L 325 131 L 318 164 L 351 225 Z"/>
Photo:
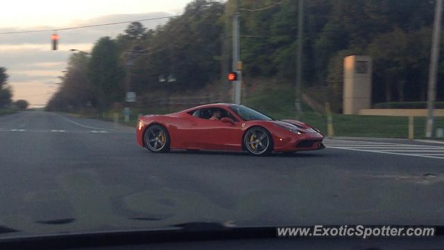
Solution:
<path fill-rule="evenodd" d="M 433 24 L 432 52 L 430 55 L 429 66 L 429 87 L 427 89 L 427 128 L 425 136 L 432 138 L 433 136 L 433 110 L 436 100 L 436 69 L 439 60 L 439 40 L 441 35 L 441 15 L 443 12 L 443 0 L 436 0 L 435 19 Z"/>

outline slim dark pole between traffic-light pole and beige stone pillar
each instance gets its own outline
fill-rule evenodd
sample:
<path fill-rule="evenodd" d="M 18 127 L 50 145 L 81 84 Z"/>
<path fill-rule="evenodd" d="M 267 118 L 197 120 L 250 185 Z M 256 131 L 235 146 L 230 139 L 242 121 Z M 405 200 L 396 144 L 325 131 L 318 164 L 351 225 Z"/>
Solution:
<path fill-rule="evenodd" d="M 300 100 L 302 99 L 302 46 L 304 44 L 303 37 L 304 27 L 304 0 L 298 1 L 298 44 L 296 48 L 296 98 L 294 105 L 296 107 L 296 117 L 302 115 L 302 107 Z"/>

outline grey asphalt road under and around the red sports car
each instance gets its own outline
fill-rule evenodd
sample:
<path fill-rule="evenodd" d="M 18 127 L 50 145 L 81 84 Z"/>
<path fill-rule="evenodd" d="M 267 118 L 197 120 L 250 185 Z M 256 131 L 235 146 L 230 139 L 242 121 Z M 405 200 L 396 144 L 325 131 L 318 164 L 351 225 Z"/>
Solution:
<path fill-rule="evenodd" d="M 444 224 L 444 144 L 326 145 L 291 156 L 153 154 L 132 127 L 43 111 L 0 116 L 0 238 L 186 222 Z"/>

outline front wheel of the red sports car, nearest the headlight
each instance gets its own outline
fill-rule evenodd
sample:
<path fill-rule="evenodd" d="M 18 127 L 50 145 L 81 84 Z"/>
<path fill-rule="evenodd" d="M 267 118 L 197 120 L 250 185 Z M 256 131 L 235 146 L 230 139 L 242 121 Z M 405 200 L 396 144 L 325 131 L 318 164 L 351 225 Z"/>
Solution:
<path fill-rule="evenodd" d="M 266 155 L 273 150 L 273 139 L 262 127 L 252 127 L 244 136 L 244 145 L 249 154 Z"/>

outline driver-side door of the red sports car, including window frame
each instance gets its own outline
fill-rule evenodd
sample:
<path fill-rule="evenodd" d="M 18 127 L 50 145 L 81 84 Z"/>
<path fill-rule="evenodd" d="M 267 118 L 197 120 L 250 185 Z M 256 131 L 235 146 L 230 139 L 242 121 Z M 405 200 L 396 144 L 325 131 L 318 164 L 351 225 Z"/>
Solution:
<path fill-rule="evenodd" d="M 214 109 L 214 108 L 213 108 Z M 221 109 L 224 116 L 228 111 Z M 190 148 L 206 150 L 240 150 L 241 148 L 241 123 L 234 118 L 234 123 L 223 123 L 221 120 L 210 120 L 212 109 L 201 109 L 200 116 L 193 117 L 191 122 Z M 209 117 L 210 116 L 210 117 Z"/>

